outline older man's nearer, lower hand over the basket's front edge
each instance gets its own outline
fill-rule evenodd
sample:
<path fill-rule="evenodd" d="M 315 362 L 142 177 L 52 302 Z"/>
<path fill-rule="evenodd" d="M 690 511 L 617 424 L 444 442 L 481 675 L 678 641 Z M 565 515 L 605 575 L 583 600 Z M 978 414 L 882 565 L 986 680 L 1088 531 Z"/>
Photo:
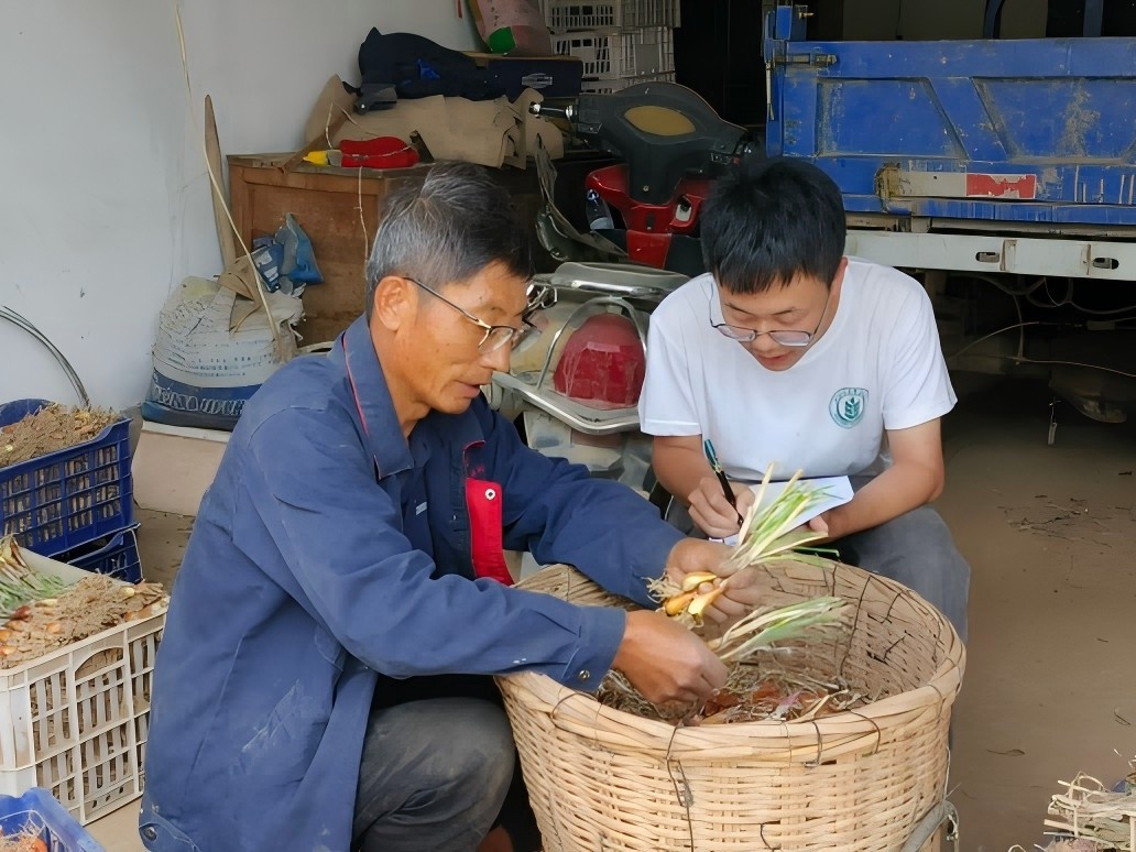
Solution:
<path fill-rule="evenodd" d="M 705 643 L 661 612 L 627 613 L 611 667 L 654 704 L 692 703 L 726 683 L 726 667 Z"/>

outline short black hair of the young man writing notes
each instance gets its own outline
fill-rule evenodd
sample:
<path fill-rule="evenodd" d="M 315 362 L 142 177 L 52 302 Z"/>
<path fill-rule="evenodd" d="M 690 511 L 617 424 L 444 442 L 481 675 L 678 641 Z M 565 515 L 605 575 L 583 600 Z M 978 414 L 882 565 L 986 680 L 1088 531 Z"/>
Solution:
<path fill-rule="evenodd" d="M 713 185 L 699 232 L 707 269 L 730 292 L 761 293 L 797 275 L 832 284 L 844 256 L 844 202 L 810 162 L 743 161 Z"/>

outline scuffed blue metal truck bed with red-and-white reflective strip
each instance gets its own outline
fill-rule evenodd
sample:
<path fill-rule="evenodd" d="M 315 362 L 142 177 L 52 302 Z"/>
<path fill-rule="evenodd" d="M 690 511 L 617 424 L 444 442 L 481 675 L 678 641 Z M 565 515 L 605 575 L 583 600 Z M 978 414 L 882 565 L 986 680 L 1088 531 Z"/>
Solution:
<path fill-rule="evenodd" d="M 801 14 L 767 22 L 767 151 L 850 214 L 1136 226 L 1136 39 L 819 42 Z"/>

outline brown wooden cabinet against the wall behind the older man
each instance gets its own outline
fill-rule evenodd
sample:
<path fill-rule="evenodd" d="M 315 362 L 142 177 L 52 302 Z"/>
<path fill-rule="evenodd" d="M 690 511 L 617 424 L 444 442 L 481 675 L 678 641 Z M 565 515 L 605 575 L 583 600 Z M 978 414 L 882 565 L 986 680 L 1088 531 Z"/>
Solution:
<path fill-rule="evenodd" d="M 254 236 L 275 233 L 289 212 L 311 239 L 324 283 L 304 290 L 306 318 L 298 331 L 304 344 L 318 343 L 333 340 L 364 310 L 364 269 L 378 225 L 379 202 L 402 182 L 420 183 L 431 166 L 379 170 L 304 164 L 285 173 L 281 165 L 287 158 L 229 157 L 229 199 L 236 227 L 250 247 Z M 513 198 L 523 219 L 535 223 L 541 206 L 536 169 L 507 166 L 493 174 Z M 546 267 L 546 257 L 538 257 L 537 264 Z"/>

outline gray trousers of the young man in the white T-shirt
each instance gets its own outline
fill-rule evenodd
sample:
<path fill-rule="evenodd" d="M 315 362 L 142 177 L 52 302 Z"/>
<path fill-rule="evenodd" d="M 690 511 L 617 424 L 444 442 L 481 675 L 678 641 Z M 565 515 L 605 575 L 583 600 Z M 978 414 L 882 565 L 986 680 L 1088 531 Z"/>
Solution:
<path fill-rule="evenodd" d="M 850 477 L 852 488 L 859 491 L 871 478 Z M 667 519 L 687 534 L 700 533 L 677 500 L 671 501 Z M 954 546 L 946 524 L 929 506 L 819 546 L 850 552 L 854 556 L 847 561 L 902 583 L 946 616 L 966 642 L 970 566 Z"/>

